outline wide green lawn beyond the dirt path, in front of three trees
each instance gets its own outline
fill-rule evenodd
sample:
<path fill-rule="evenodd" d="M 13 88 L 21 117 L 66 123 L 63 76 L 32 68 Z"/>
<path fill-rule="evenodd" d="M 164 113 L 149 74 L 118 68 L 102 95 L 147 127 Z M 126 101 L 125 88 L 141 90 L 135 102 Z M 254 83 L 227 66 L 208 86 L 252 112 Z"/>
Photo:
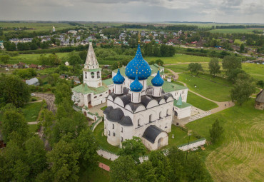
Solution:
<path fill-rule="evenodd" d="M 213 77 L 207 74 L 199 74 L 192 76 L 191 74 L 180 74 L 178 81 L 187 84 L 191 91 L 200 93 L 206 98 L 214 101 L 230 101 L 230 90 L 232 85 L 220 77 Z M 195 87 L 196 85 L 196 87 Z"/>

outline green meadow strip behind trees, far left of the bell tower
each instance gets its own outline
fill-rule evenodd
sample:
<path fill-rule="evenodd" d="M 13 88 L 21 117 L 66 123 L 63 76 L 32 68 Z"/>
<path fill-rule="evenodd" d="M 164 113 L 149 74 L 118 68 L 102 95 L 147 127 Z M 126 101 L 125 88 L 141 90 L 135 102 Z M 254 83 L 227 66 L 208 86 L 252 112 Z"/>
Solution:
<path fill-rule="evenodd" d="M 50 54 L 43 55 L 49 56 Z M 68 53 L 56 53 L 56 55 L 61 59 L 64 56 L 67 56 Z M 8 64 L 18 64 L 19 62 L 25 64 L 40 64 L 39 56 L 41 56 L 41 54 L 19 54 L 19 56 L 11 57 Z"/>

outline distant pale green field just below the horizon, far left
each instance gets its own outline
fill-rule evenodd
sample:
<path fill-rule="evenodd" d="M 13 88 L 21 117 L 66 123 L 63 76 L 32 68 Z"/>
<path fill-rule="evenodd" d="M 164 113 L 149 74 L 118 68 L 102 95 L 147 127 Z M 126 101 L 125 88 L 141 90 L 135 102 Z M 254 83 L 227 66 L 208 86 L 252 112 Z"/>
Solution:
<path fill-rule="evenodd" d="M 56 22 L 50 22 L 50 23 L 35 23 L 35 22 L 21 22 L 21 23 L 9 23 L 9 22 L 0 22 L 0 27 L 6 28 L 19 28 L 19 27 L 24 27 L 26 28 L 34 28 L 34 30 L 24 30 L 24 31 L 51 31 L 52 27 L 55 26 L 56 30 L 62 30 L 62 29 L 74 29 L 75 26 L 71 26 L 70 24 L 67 23 L 56 23 Z M 5 31 L 6 32 L 6 31 Z"/>

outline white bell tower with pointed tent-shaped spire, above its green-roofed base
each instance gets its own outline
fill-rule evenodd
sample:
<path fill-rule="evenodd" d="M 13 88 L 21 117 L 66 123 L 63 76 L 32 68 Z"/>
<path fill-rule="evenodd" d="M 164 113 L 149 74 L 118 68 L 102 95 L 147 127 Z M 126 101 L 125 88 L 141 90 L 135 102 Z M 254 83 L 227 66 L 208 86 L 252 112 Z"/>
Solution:
<path fill-rule="evenodd" d="M 95 88 L 102 86 L 101 68 L 96 59 L 96 54 L 94 53 L 91 41 L 89 42 L 86 63 L 84 64 L 83 69 L 83 84 Z"/>

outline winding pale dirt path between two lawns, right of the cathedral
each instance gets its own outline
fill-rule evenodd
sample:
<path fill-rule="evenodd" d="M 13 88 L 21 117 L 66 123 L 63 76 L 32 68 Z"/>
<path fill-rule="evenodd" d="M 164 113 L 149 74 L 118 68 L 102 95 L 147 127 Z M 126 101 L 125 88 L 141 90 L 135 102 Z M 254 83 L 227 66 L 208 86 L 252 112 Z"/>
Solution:
<path fill-rule="evenodd" d="M 174 76 L 174 79 L 177 79 L 177 80 L 178 80 L 178 78 L 179 78 L 178 74 L 181 74 L 181 73 L 176 73 L 176 72 L 174 72 L 174 71 L 171 70 L 171 69 L 167 69 L 167 70 L 168 70 L 168 71 L 171 71 L 171 73 L 172 73 L 173 76 Z M 180 83 L 183 84 L 184 86 L 187 86 L 186 83 L 184 83 L 184 82 L 182 82 L 182 81 L 178 81 L 178 82 L 180 82 Z M 188 89 L 188 91 L 191 91 L 191 90 Z M 219 112 L 219 111 L 224 110 L 225 108 L 230 108 L 230 107 L 232 107 L 232 106 L 235 106 L 235 103 L 233 103 L 232 101 L 225 101 L 225 102 L 213 101 L 212 99 L 210 99 L 210 98 L 206 98 L 205 96 L 202 96 L 202 95 L 200 95 L 199 93 L 196 93 L 195 91 L 191 91 L 191 92 L 194 93 L 194 94 L 196 94 L 197 96 L 200 96 L 200 97 L 202 97 L 202 98 L 205 98 L 206 100 L 208 100 L 208 101 L 212 101 L 212 102 L 214 102 L 214 103 L 216 103 L 216 104 L 218 105 L 217 108 L 213 108 L 213 109 L 211 110 L 211 113 L 217 113 L 217 112 Z"/>

